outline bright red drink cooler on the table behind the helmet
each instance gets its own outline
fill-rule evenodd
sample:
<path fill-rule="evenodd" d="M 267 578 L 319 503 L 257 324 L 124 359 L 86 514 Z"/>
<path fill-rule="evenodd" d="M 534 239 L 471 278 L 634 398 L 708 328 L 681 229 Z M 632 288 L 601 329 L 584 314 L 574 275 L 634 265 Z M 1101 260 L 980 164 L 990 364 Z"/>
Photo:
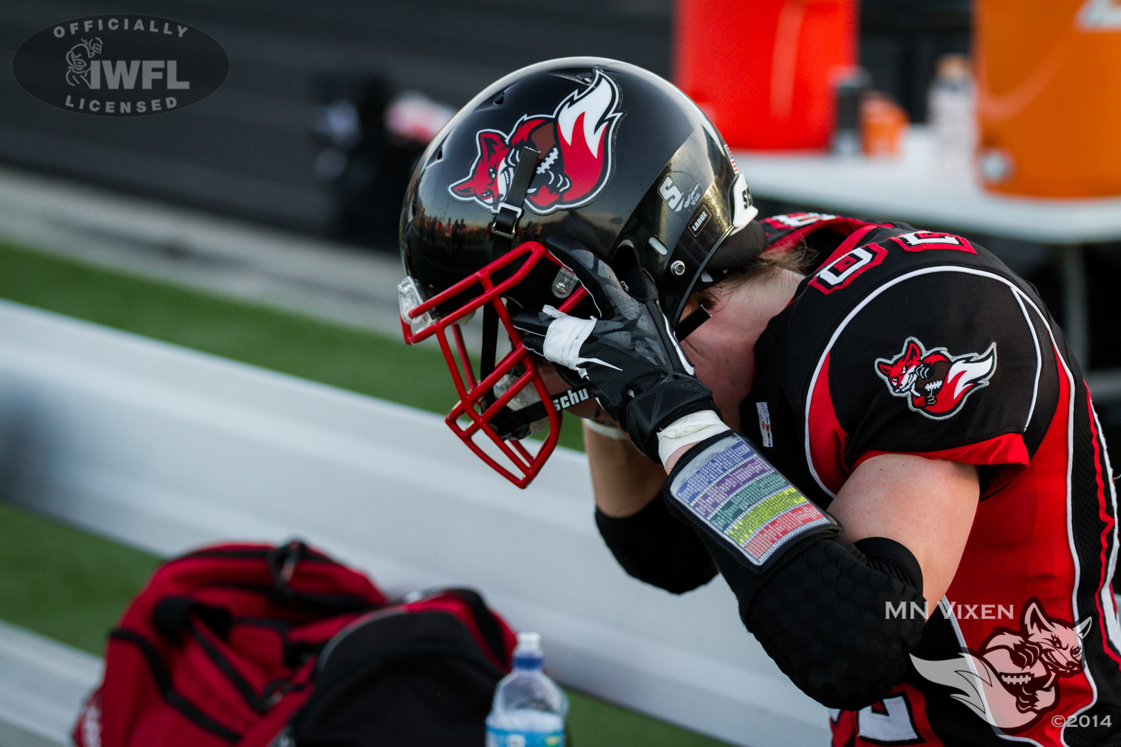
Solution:
<path fill-rule="evenodd" d="M 675 83 L 733 148 L 825 148 L 855 0 L 677 0 Z"/>

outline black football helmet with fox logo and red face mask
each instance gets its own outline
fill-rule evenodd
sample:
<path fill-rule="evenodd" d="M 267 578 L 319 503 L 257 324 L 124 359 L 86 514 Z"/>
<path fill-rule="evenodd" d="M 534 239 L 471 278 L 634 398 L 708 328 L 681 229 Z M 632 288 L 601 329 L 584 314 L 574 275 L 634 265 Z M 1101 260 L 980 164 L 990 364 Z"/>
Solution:
<path fill-rule="evenodd" d="M 448 426 L 525 487 L 556 446 L 559 411 L 587 399 L 575 372 L 563 371 L 575 389 L 550 398 L 510 323 L 511 306 L 595 316 L 572 272 L 540 243 L 546 236 L 565 232 L 620 278 L 648 272 L 684 337 L 706 318 L 698 311 L 682 320 L 689 293 L 712 282 L 706 270 L 761 251 L 725 241 L 757 213 L 720 132 L 648 71 L 568 57 L 493 83 L 428 146 L 401 208 L 402 330 L 410 344 L 439 342 L 460 395 Z M 460 327 L 479 309 L 476 375 Z M 495 361 L 500 326 L 511 349 Z M 549 433 L 531 452 L 521 439 L 545 422 Z"/>

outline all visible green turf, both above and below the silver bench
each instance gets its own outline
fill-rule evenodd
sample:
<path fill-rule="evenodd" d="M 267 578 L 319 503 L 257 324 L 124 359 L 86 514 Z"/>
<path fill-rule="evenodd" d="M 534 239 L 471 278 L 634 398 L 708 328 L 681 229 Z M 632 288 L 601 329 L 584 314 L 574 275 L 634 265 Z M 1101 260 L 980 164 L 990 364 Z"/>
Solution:
<path fill-rule="evenodd" d="M 441 414 L 443 357 L 334 326 L 0 242 L 0 298 Z M 568 419 L 563 445 L 582 448 Z M 101 654 L 159 560 L 0 503 L 0 618 Z M 569 692 L 575 747 L 715 747 L 677 727 Z"/>

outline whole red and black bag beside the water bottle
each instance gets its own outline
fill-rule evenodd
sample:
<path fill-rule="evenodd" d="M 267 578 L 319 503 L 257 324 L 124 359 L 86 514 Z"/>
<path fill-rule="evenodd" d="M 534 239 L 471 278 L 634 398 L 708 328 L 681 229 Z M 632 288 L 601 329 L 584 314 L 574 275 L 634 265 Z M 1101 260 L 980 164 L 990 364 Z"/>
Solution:
<path fill-rule="evenodd" d="M 302 542 L 204 548 L 160 567 L 110 633 L 74 741 L 474 747 L 513 646 L 472 589 L 389 603 Z"/>

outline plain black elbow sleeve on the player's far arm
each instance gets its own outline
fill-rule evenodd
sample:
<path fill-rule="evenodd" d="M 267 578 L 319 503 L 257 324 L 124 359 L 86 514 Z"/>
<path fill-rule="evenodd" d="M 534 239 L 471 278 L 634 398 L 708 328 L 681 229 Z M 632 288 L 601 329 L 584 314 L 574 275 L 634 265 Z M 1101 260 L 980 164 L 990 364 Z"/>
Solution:
<path fill-rule="evenodd" d="M 640 581 L 685 594 L 716 576 L 716 566 L 701 538 L 675 519 L 660 497 L 623 519 L 612 519 L 596 508 L 595 525 L 622 569 Z"/>

